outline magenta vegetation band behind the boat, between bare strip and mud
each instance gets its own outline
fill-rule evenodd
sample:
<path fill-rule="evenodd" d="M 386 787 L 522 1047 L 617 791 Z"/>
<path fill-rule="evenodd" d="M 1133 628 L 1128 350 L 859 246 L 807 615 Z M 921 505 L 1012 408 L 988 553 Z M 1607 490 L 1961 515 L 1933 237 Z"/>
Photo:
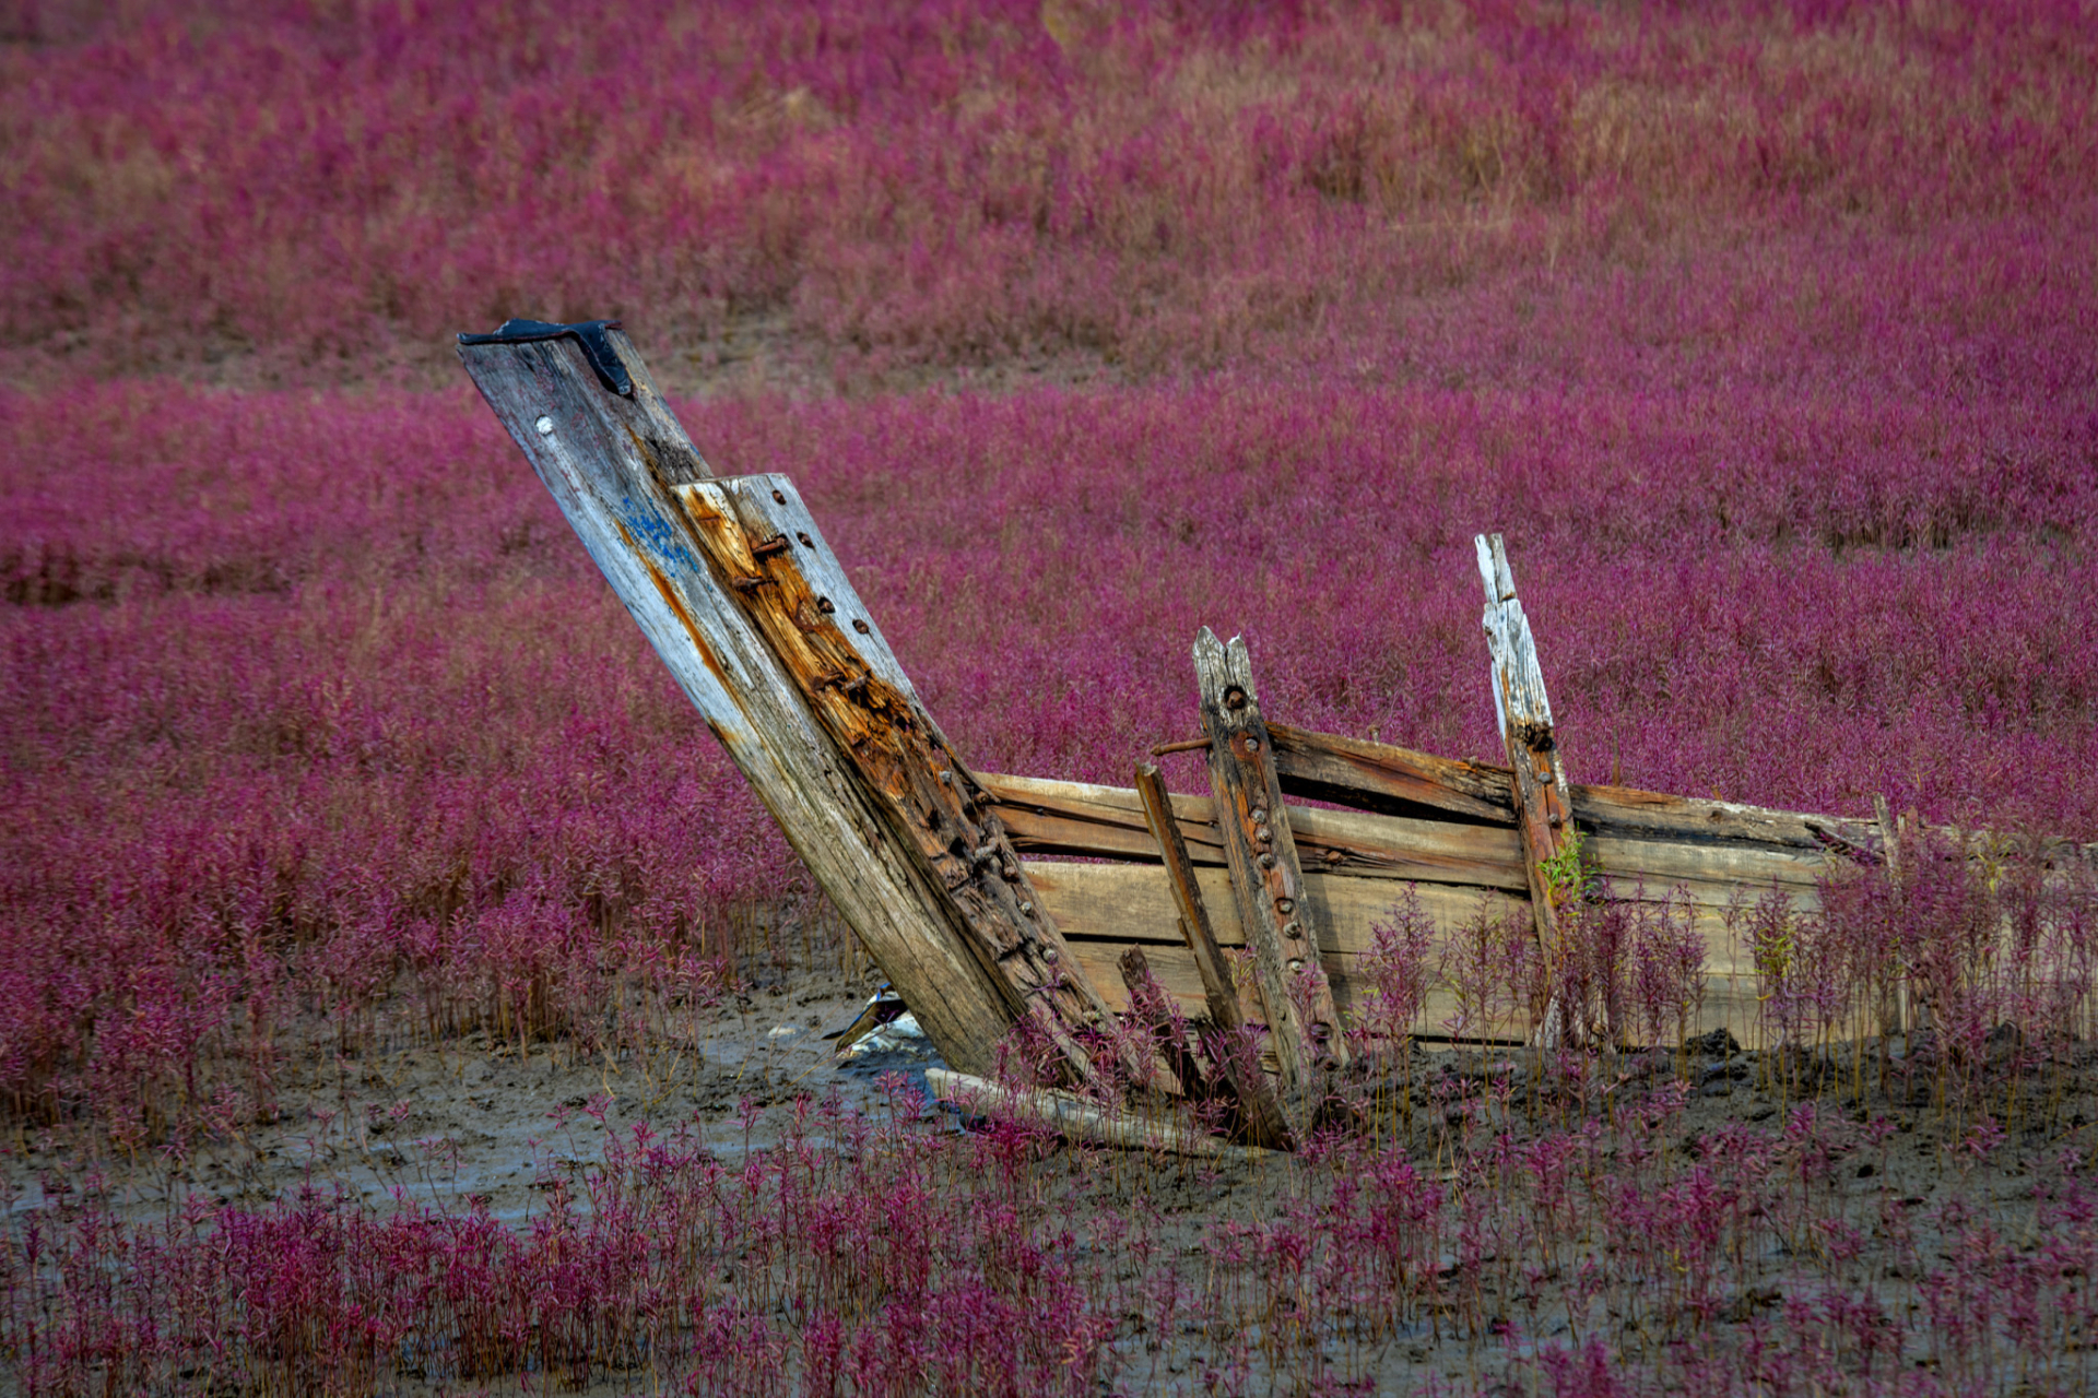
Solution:
<path fill-rule="evenodd" d="M 659 1025 L 738 956 L 843 964 L 770 817 L 478 405 L 170 386 L 0 405 L 15 1111 L 151 1134 L 222 1094 L 266 1109 L 281 1046 L 315 1029 L 587 1044 Z M 1127 782 L 1190 723 L 1200 625 L 1253 637 L 1280 719 L 1490 757 L 1467 547 L 1492 520 L 1578 778 L 2098 830 L 2064 778 L 2098 769 L 2098 648 L 2060 606 L 2092 555 L 2056 543 L 2098 476 L 2067 438 L 1976 423 L 2022 453 L 1987 497 L 1981 457 L 1941 455 L 1848 503 L 1840 457 L 1760 440 L 1771 413 L 1699 428 L 1701 461 L 1760 463 L 1714 482 L 1620 449 L 1668 440 L 1666 411 L 1620 407 L 1215 386 L 688 415 L 724 469 L 804 482 L 982 767 Z M 1936 428 L 1918 432 L 1930 461 Z M 1714 493 L 1727 524 L 1685 532 Z M 1846 543 L 1926 526 L 1947 545 Z M 745 935 L 783 899 L 804 912 L 768 926 L 789 933 Z M 1607 939 L 1607 966 L 1532 970 L 1582 981 L 1624 1037 L 1666 1019 L 1668 954 L 1613 905 L 1569 943 Z M 1550 996 L 1502 983 L 1475 1014 Z"/>

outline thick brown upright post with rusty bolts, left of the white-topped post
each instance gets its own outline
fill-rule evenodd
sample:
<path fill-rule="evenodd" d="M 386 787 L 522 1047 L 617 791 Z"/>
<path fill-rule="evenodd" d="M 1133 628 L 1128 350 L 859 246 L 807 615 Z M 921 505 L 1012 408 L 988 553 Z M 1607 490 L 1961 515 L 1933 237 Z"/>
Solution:
<path fill-rule="evenodd" d="M 1282 1067 L 1282 1111 L 1299 1140 L 1320 1111 L 1318 1061 L 1347 1065 L 1347 1035 L 1326 983 L 1318 937 L 1305 905 L 1305 876 L 1290 838 L 1273 742 L 1253 692 L 1246 641 L 1225 646 L 1202 627 L 1194 639 L 1208 734 L 1208 786 L 1238 916 L 1253 945 L 1255 983 L 1267 1008 L 1267 1033 Z"/>

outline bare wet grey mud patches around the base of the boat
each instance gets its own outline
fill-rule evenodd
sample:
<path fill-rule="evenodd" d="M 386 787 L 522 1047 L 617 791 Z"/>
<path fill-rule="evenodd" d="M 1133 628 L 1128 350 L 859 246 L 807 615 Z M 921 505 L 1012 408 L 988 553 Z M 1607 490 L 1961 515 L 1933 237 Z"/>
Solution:
<path fill-rule="evenodd" d="M 46 1209 L 57 1195 L 78 1188 L 88 1172 L 103 1172 L 117 1211 L 138 1222 L 164 1216 L 191 1199 L 212 1203 L 264 1205 L 300 1186 L 346 1191 L 376 1209 L 394 1199 L 418 1205 L 459 1207 L 485 1197 L 495 1216 L 524 1222 L 543 1207 L 545 1191 L 560 1176 L 577 1176 L 598 1159 L 606 1132 L 636 1121 L 661 1130 L 694 1123 L 707 1146 L 724 1161 L 747 1151 L 770 1149 L 785 1134 L 789 1107 L 799 1096 L 839 1094 L 845 1105 L 881 1115 L 902 1073 L 923 1088 L 923 1071 L 938 1065 L 929 1046 L 839 1061 L 825 1035 L 850 1021 L 866 1004 L 873 981 L 841 983 L 835 973 L 789 973 L 770 983 L 749 985 L 728 996 L 711 1012 L 703 1033 L 676 1046 L 659 1046 L 646 1058 L 583 1056 L 571 1048 L 491 1042 L 468 1035 L 445 1044 L 420 1044 L 357 1056 L 336 1056 L 304 1071 L 287 1086 L 271 1121 L 256 1121 L 231 1138 L 201 1142 L 185 1159 L 155 1157 L 130 1161 L 111 1157 L 80 1140 L 46 1134 L 19 1138 L 0 1155 L 10 1188 L 8 1209 L 21 1216 Z M 1882 1046 L 1865 1046 L 1863 1061 L 1878 1061 Z M 2035 1222 L 2035 1184 L 2058 1178 L 2064 1151 L 2092 1155 L 2090 1121 L 2098 1121 L 2098 1071 L 2085 1056 L 2031 1065 L 2022 1094 L 1999 1096 L 1989 1130 L 2001 1138 L 1989 1151 L 1974 1149 L 1976 1117 L 1945 1111 L 1936 1102 L 1943 1077 L 1932 1065 L 1928 1042 L 1888 1044 L 1882 1067 L 1869 1071 L 1863 1100 L 1853 1096 L 1850 1067 L 1857 1056 L 1834 1054 L 1842 1071 L 1821 1061 L 1787 1061 L 1741 1054 L 1722 1042 L 1701 1042 L 1674 1056 L 1620 1058 L 1599 1065 L 1586 1105 L 1559 1094 L 1557 1100 L 1527 1105 L 1525 1088 L 1504 1094 L 1496 1107 L 1490 1084 L 1534 1082 L 1534 1063 L 1523 1050 L 1452 1050 L 1418 1046 L 1410 1067 L 1412 1111 L 1374 1123 L 1387 1134 L 1404 1130 L 1418 1170 L 1448 1178 L 1452 1163 L 1490 1140 L 1506 1117 L 1521 1117 L 1519 1136 L 1578 1123 L 1584 1115 L 1607 1117 L 1611 1094 L 1618 1102 L 1651 1100 L 1670 1082 L 1683 1082 L 1687 1102 L 1670 1126 L 1668 1153 L 1695 1159 L 1699 1142 L 1714 1132 L 1746 1126 L 1779 1134 L 1790 1111 L 1811 1098 L 1817 1109 L 1857 1128 L 1850 1153 L 1829 1172 L 1829 1188 L 1853 1218 L 1899 1207 L 1918 1220 L 1920 1251 L 1934 1241 L 1928 1222 L 1949 1199 L 1987 1209 L 2008 1239 L 2029 1239 Z M 2006 1054 L 2014 1044 L 1999 1046 Z M 1882 1082 L 1880 1075 L 1886 1073 Z M 1779 1082 L 1779 1077 L 1785 1082 Z M 1840 1079 L 1840 1082 L 1838 1082 Z M 1372 1094 L 1374 1096 L 1374 1094 Z M 1397 1102 L 1393 1092 L 1380 1098 Z M 1462 1102 L 1471 1107 L 1462 1107 Z M 2010 1113 L 2001 1109 L 2010 1107 Z M 1469 1115 L 1467 1115 L 1469 1113 Z M 1880 1138 L 1865 1138 L 1865 1123 L 1880 1121 Z M 927 1130 L 967 1130 L 952 1113 L 936 1113 Z M 1840 1128 L 1842 1130 L 1842 1128 Z M 1303 1170 L 1294 1161 L 1229 1163 L 1190 1170 L 1171 1161 L 1135 1161 L 1108 1167 L 1093 1151 L 1045 1146 L 1034 1170 L 1049 1197 L 1064 1195 L 1076 1207 L 1116 1207 L 1154 1220 L 1158 1245 L 1179 1255 L 1190 1279 L 1211 1268 L 1211 1247 L 1219 1224 L 1273 1216 L 1278 1203 L 1301 1195 Z M 1773 1264 L 1779 1270 L 1783 1264 Z M 1894 1270 L 1892 1295 L 1901 1302 L 1913 1287 Z M 1777 1304 L 1781 1287 L 1746 1291 L 1748 1310 L 1729 1316 L 1752 1320 Z M 1884 1295 L 1884 1293 L 1882 1293 Z M 1762 1297 L 1762 1299 L 1756 1299 Z M 1767 1304 L 1764 1304 L 1767 1302 Z M 1546 1320 L 1525 1344 L 1565 1337 L 1563 1320 Z M 1173 1388 L 1200 1392 L 1190 1373 L 1200 1367 L 1200 1341 L 1183 1352 L 1160 1352 L 1133 1320 L 1116 1344 L 1112 1392 L 1154 1392 Z M 1372 1388 L 1357 1392 L 1414 1392 L 1427 1379 L 1460 1392 L 1492 1390 L 1521 1367 L 1521 1354 L 1496 1352 L 1492 1344 L 1460 1341 L 1422 1325 L 1383 1344 L 1372 1360 Z M 1242 1375 L 1244 1392 L 1290 1392 L 1280 1375 Z M 1523 1385 L 1527 1388 L 1527 1385 Z M 4 1381 L 0 1381 L 4 1390 Z M 382 1392 L 466 1394 L 480 1388 L 403 1383 Z M 497 1385 L 493 1392 L 516 1392 Z M 642 1377 L 608 1375 L 587 1390 L 600 1396 L 655 1392 Z"/>

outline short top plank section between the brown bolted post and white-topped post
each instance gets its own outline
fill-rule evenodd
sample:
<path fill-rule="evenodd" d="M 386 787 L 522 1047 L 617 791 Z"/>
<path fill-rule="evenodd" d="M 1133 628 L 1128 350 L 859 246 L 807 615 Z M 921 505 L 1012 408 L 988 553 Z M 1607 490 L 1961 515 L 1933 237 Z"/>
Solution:
<path fill-rule="evenodd" d="M 1515 824 L 1506 767 L 1460 763 L 1286 723 L 1269 723 L 1267 731 L 1276 740 L 1276 771 L 1284 794 L 1385 815 Z"/>

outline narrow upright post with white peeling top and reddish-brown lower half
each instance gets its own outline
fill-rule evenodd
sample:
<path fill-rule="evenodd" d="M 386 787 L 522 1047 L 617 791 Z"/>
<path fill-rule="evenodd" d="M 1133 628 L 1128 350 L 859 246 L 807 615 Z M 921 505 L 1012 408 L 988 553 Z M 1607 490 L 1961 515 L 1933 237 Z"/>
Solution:
<path fill-rule="evenodd" d="M 1523 838 L 1523 872 L 1529 878 L 1529 910 L 1538 929 L 1544 964 L 1557 968 L 1565 956 L 1559 939 L 1559 910 L 1546 870 L 1561 853 L 1567 830 L 1569 790 L 1559 742 L 1553 736 L 1553 704 L 1544 696 L 1544 671 L 1529 637 L 1529 618 L 1515 597 L 1515 574 L 1500 534 L 1475 534 L 1479 578 L 1485 583 L 1485 648 L 1494 662 L 1494 715 L 1500 719 L 1500 742 L 1513 769 L 1515 828 Z M 1536 1025 L 1546 1046 L 1567 1031 L 1565 1017 L 1574 1006 L 1548 1004 L 1544 1023 Z"/>

